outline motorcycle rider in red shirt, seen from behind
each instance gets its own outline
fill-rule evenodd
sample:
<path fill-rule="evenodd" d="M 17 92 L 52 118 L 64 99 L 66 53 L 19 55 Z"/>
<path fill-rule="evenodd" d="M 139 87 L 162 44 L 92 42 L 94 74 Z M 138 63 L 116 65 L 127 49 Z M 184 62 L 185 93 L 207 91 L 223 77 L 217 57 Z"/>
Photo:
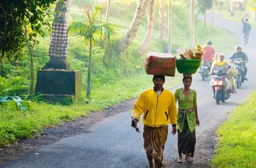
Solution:
<path fill-rule="evenodd" d="M 208 40 L 207 41 L 207 44 L 205 44 L 203 47 L 202 47 L 202 50 L 204 52 L 203 56 L 202 56 L 202 60 L 203 62 L 206 60 L 210 63 L 209 67 L 211 67 L 211 64 L 212 64 L 212 58 L 214 57 L 215 55 L 215 49 L 214 47 L 211 46 L 212 44 L 212 41 L 211 40 Z M 200 69 L 201 69 L 201 65 L 200 65 Z"/>

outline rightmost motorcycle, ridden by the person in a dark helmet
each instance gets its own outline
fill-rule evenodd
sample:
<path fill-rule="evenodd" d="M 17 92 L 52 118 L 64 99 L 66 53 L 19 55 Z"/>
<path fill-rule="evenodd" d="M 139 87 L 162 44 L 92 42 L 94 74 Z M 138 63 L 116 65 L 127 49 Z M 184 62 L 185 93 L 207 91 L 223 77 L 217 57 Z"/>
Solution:
<path fill-rule="evenodd" d="M 235 64 L 234 68 L 237 70 L 237 76 L 235 77 L 237 87 L 240 88 L 242 83 L 244 83 L 244 75 L 245 75 L 244 74 L 245 73 L 244 63 L 245 63 L 245 61 L 243 61 L 242 58 L 235 58 L 232 62 Z"/>

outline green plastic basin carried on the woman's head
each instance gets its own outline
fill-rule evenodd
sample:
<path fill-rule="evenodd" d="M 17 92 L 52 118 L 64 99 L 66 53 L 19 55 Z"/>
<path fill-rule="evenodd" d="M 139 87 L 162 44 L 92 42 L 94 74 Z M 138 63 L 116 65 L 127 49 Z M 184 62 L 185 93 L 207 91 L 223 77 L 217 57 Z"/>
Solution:
<path fill-rule="evenodd" d="M 176 59 L 176 68 L 180 74 L 195 74 L 201 60 Z"/>

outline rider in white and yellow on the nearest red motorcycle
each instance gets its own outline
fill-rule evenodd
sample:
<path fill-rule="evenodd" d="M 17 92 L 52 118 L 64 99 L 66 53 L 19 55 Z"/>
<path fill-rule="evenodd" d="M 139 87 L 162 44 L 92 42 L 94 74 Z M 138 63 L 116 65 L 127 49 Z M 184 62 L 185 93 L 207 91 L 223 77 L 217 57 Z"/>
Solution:
<path fill-rule="evenodd" d="M 227 71 L 229 65 L 228 65 L 227 61 L 224 61 L 225 55 L 223 53 L 220 53 L 218 55 L 218 57 L 219 57 L 218 60 L 212 62 L 212 66 L 211 66 L 209 75 L 211 75 L 211 73 L 216 71 L 216 70 Z M 210 82 L 210 84 L 211 84 L 211 82 Z M 225 90 L 224 90 L 224 93 L 225 93 L 225 91 L 228 88 L 229 88 L 229 81 L 228 81 L 228 78 L 225 78 Z M 212 95 L 212 97 L 215 98 L 215 87 L 212 87 L 212 90 L 213 90 L 213 93 L 214 93 L 214 95 Z"/>

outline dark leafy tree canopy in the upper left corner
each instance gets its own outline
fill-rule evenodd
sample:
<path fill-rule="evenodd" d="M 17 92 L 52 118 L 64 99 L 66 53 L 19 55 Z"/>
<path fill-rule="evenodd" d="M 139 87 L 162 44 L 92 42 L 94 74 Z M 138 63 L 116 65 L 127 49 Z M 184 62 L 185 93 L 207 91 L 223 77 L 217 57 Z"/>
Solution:
<path fill-rule="evenodd" d="M 12 0 L 0 3 L 0 60 L 17 58 L 27 43 L 37 34 L 45 36 L 44 29 L 51 29 L 49 8 L 57 0 Z M 24 35 L 29 24 L 31 33 Z M 33 38 L 34 37 L 34 38 Z"/>

